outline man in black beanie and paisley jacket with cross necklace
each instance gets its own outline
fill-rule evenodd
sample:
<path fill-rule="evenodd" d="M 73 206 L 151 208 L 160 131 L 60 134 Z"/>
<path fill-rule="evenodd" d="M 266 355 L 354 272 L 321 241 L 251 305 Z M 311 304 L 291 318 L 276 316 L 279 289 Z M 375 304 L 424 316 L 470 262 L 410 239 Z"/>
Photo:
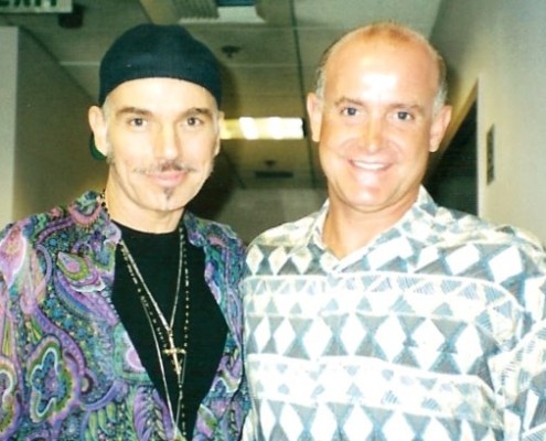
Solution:
<path fill-rule="evenodd" d="M 237 440 L 244 247 L 186 209 L 220 150 L 216 60 L 142 24 L 99 75 L 105 190 L 0 233 L 0 439 Z"/>

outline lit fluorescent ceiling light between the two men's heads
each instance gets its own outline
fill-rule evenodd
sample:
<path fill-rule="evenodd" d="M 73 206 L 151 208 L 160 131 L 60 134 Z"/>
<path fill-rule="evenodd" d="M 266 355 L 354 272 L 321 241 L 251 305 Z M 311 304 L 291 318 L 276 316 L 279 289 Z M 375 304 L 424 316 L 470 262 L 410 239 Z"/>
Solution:
<path fill-rule="evenodd" d="M 250 118 L 226 119 L 222 126 L 222 139 L 303 139 L 301 118 Z"/>

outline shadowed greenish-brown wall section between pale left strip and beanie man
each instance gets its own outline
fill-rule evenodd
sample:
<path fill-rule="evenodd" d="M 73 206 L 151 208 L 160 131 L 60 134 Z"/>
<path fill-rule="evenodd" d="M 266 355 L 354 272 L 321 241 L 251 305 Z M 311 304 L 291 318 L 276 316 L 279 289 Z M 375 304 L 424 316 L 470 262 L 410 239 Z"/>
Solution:
<path fill-rule="evenodd" d="M 105 179 L 105 165 L 88 153 L 92 99 L 31 36 L 20 31 L 19 41 L 15 218 L 67 203 Z"/>

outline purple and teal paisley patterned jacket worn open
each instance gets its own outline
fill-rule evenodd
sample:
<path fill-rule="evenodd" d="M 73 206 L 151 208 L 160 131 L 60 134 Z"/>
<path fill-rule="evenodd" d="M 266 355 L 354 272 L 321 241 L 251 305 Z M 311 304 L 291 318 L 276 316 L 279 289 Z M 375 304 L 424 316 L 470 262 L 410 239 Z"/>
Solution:
<path fill-rule="evenodd" d="M 120 232 L 88 192 L 0 233 L 0 439 L 181 439 L 110 298 Z M 236 440 L 247 409 L 237 283 L 244 247 L 185 213 L 228 326 L 193 440 Z"/>

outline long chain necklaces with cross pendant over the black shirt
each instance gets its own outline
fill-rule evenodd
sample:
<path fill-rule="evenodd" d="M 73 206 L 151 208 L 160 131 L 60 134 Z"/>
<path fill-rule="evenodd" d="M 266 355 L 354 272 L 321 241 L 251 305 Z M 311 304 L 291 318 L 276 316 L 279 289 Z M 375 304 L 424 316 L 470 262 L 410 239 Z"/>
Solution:
<path fill-rule="evenodd" d="M 106 206 L 105 193 L 100 194 L 100 205 L 108 213 Z M 185 377 L 185 366 L 188 356 L 188 344 L 189 344 L 189 332 L 190 332 L 190 277 L 188 270 L 188 256 L 185 247 L 185 238 L 182 225 L 179 227 L 179 271 L 176 277 L 176 291 L 174 295 L 174 302 L 171 311 L 171 316 L 167 321 L 164 314 L 162 313 L 156 298 L 148 288 L 148 284 L 140 272 L 135 258 L 132 257 L 127 244 L 124 239 L 120 240 L 121 256 L 126 262 L 129 276 L 137 288 L 137 294 L 142 304 L 148 324 L 150 325 L 151 334 L 153 337 L 156 352 L 158 354 L 159 366 L 161 369 L 161 376 L 163 380 L 163 388 L 165 391 L 167 404 L 169 407 L 169 412 L 171 419 L 174 421 L 175 426 L 179 426 L 181 421 L 182 434 L 185 438 L 185 417 L 184 417 L 184 406 L 183 406 L 183 385 Z M 179 299 L 180 299 L 180 288 L 182 283 L 182 271 L 184 275 L 184 323 L 183 323 L 183 338 L 182 346 L 176 346 L 174 342 L 174 321 L 176 318 L 176 312 L 179 310 Z M 176 376 L 176 408 L 172 404 L 171 394 L 169 394 L 169 387 L 167 385 L 165 366 L 163 364 L 163 357 L 165 355 L 170 357 L 174 374 Z"/>

